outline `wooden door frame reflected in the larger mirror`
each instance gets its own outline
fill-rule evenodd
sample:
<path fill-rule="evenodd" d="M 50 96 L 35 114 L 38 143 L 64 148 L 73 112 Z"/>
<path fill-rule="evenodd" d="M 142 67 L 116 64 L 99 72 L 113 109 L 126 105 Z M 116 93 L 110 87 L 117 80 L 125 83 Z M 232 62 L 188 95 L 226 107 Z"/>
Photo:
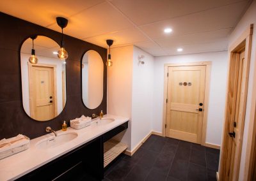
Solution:
<path fill-rule="evenodd" d="M 32 89 L 31 89 L 31 80 L 30 80 L 30 75 L 32 72 L 32 66 L 38 66 L 38 67 L 44 67 L 44 68 L 53 68 L 53 89 L 54 89 L 54 116 L 56 117 L 58 115 L 58 99 L 57 99 L 57 76 L 56 76 L 56 68 L 57 66 L 54 64 L 31 64 L 28 62 L 28 81 L 29 81 L 29 95 L 32 94 Z M 33 107 L 33 106 L 32 106 Z M 30 115 L 31 115 L 31 110 L 33 108 L 31 107 L 31 101 L 29 97 L 29 110 L 30 110 Z M 32 108 L 32 109 L 31 109 Z M 46 120 L 45 120 L 46 121 Z"/>

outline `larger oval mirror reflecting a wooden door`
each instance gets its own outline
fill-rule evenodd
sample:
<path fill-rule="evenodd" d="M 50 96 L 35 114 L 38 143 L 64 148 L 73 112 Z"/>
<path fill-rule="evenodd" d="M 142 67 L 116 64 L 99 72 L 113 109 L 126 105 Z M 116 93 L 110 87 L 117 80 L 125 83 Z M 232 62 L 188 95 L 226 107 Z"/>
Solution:
<path fill-rule="evenodd" d="M 20 49 L 22 103 L 32 119 L 54 119 L 66 104 L 66 62 L 58 59 L 59 48 L 51 38 L 31 36 Z"/>

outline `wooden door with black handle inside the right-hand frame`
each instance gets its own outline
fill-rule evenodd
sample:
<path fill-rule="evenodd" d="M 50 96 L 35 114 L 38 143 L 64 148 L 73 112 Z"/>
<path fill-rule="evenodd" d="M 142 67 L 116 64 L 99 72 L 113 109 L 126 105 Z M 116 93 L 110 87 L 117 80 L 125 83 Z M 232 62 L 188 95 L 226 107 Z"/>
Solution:
<path fill-rule="evenodd" d="M 230 76 L 230 92 L 228 95 L 228 144 L 224 147 L 224 152 L 227 152 L 227 165 L 225 171 L 225 180 L 238 180 L 239 166 L 241 159 L 241 146 L 243 141 L 243 126 L 244 126 L 244 94 L 246 94 L 246 71 L 244 63 L 244 51 L 239 54 L 234 54 L 236 60 L 231 67 L 232 73 Z"/>

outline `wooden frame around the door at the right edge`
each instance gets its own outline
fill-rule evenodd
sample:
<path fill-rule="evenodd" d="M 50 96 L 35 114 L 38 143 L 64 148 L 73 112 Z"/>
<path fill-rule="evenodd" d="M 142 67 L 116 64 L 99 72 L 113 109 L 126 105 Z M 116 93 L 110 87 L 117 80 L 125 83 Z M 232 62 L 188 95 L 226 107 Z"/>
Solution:
<path fill-rule="evenodd" d="M 249 76 L 249 70 L 250 70 L 250 55 L 251 55 L 251 48 L 252 48 L 252 33 L 253 33 L 253 25 L 250 25 L 250 27 L 248 27 L 246 29 L 246 31 L 244 31 L 243 34 L 241 34 L 241 36 L 239 36 L 239 38 L 237 38 L 236 41 L 234 41 L 234 43 L 232 43 L 229 48 L 228 48 L 228 54 L 229 54 L 229 59 L 228 59 L 228 80 L 230 79 L 230 66 L 231 66 L 231 61 L 234 59 L 234 55 L 236 56 L 237 52 L 239 52 L 239 50 L 241 50 L 241 47 L 243 47 L 245 45 L 245 50 L 244 50 L 244 70 L 245 75 L 245 87 L 244 87 L 244 95 L 243 97 L 241 96 L 241 105 L 239 106 L 243 106 L 243 121 L 241 124 L 241 141 L 239 143 L 239 148 L 241 149 L 242 147 L 242 143 L 243 143 L 243 131 L 244 131 L 244 119 L 245 119 L 245 113 L 246 113 L 246 101 L 247 101 L 247 90 L 248 90 L 248 76 Z M 228 92 L 229 92 L 229 81 L 227 81 L 227 90 L 226 90 L 226 104 L 225 104 L 225 122 L 224 122 L 224 126 L 223 126 L 223 136 L 222 136 L 222 143 L 221 143 L 221 148 L 224 147 L 225 144 L 228 143 L 228 139 L 227 136 L 225 136 L 226 134 L 228 134 L 228 120 L 227 120 L 227 114 L 228 114 Z M 250 141 L 248 141 L 250 142 Z M 254 143 L 253 143 L 254 144 Z M 223 152 L 223 149 L 221 149 L 221 154 L 220 154 L 220 175 L 219 175 L 219 180 L 223 180 L 223 178 L 225 179 L 225 168 L 227 167 L 227 161 L 225 160 L 225 154 Z M 237 157 L 237 161 L 238 163 L 234 166 L 236 166 L 237 170 L 237 174 L 239 174 L 239 166 L 240 166 L 240 160 L 241 160 L 241 150 L 239 150 L 238 153 L 238 157 Z M 250 161 L 248 161 L 249 163 Z M 246 164 L 248 164 L 246 163 Z M 228 163 L 228 168 L 230 168 L 230 165 Z M 238 175 L 237 175 L 238 178 Z M 246 177 L 244 177 L 246 178 Z M 247 180 L 247 179 L 245 179 Z"/>

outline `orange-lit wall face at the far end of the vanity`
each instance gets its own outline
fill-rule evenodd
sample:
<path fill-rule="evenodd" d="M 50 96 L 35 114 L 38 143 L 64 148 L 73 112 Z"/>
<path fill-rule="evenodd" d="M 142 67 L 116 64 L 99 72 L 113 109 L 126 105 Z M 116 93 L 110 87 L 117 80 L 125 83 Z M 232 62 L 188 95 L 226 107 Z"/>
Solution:
<path fill-rule="evenodd" d="M 131 120 L 132 106 L 132 46 L 111 48 L 113 66 L 108 67 L 108 114 L 127 117 Z M 131 121 L 119 138 L 131 150 Z"/>

